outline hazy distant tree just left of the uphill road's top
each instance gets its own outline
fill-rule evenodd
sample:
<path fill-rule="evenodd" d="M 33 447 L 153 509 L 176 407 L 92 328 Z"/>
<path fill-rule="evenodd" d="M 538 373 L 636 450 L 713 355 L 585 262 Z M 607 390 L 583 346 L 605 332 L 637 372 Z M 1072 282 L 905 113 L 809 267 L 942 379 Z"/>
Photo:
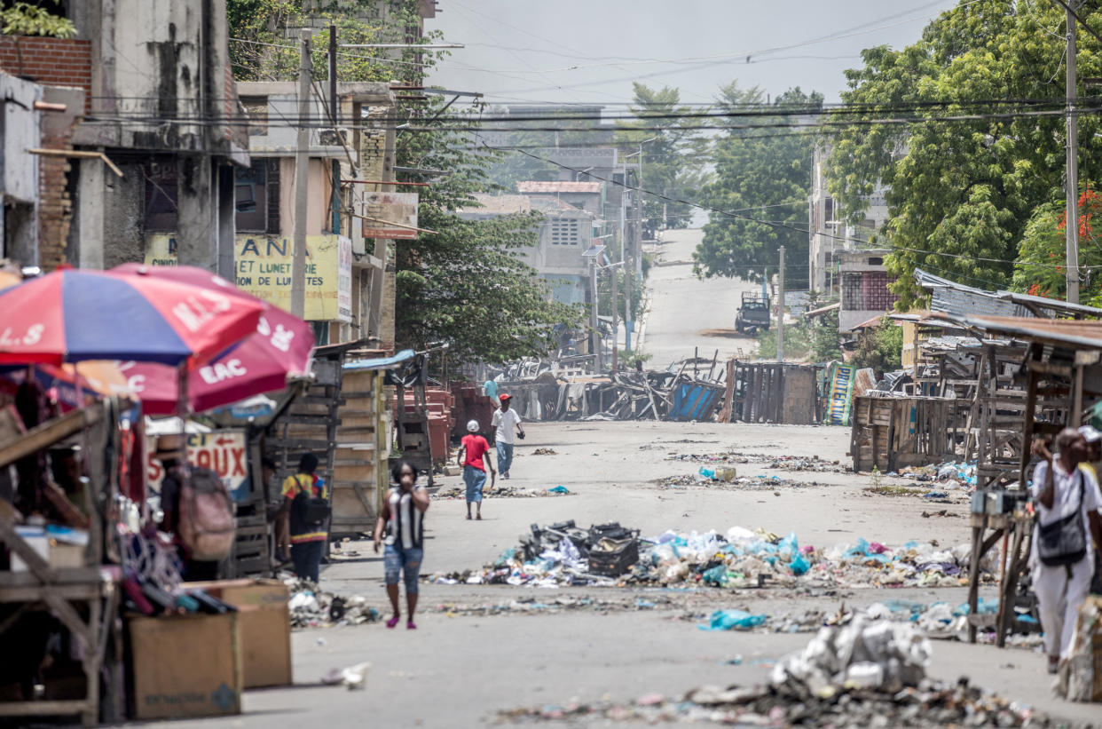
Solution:
<path fill-rule="evenodd" d="M 618 121 L 616 143 L 625 154 L 641 157 L 642 187 L 672 200 L 693 200 L 706 174 L 701 165 L 691 164 L 688 154 L 700 150 L 699 122 L 677 118 L 689 112 L 681 106 L 681 94 L 663 86 L 653 89 L 634 82 L 635 95 L 628 107 L 636 121 Z M 641 149 L 641 154 L 639 154 Z M 693 207 L 684 203 L 642 195 L 642 228 L 653 237 L 665 219 L 671 228 L 689 227 Z"/>

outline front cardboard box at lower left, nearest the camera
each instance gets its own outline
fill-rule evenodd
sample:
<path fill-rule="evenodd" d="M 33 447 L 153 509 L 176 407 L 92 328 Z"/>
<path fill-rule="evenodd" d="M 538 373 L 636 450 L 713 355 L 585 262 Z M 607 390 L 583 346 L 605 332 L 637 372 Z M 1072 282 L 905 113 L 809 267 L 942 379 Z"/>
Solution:
<path fill-rule="evenodd" d="M 240 714 L 237 614 L 128 617 L 131 718 Z"/>

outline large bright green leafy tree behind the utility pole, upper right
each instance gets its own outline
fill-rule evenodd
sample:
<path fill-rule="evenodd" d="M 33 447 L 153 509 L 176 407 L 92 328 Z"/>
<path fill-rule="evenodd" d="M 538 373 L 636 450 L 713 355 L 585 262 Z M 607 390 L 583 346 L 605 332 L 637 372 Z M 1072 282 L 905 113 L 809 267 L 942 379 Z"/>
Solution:
<path fill-rule="evenodd" d="M 1102 11 L 1083 7 L 1092 26 Z M 843 101 L 858 109 L 833 140 L 831 193 L 851 219 L 862 216 L 878 183 L 888 186 L 889 219 L 880 242 L 897 276 L 900 309 L 925 293 L 916 267 L 983 288 L 1006 287 L 1027 223 L 1039 205 L 1062 196 L 1061 116 L 1017 115 L 1063 98 L 1065 13 L 1051 3 L 962 1 L 901 51 L 863 53 L 846 72 Z M 1081 76 L 1102 74 L 1102 47 L 1079 35 Z M 1080 90 L 1080 95 L 1083 92 Z M 979 115 L 974 120 L 876 124 L 885 118 Z M 1095 116 L 1080 117 L 1083 179 L 1099 179 L 1102 143 Z"/>

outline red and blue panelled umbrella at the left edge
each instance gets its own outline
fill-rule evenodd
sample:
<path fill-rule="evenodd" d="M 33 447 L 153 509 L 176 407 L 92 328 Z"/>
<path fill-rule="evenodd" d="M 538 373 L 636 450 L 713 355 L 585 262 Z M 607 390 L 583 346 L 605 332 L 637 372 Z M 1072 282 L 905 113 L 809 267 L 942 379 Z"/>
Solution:
<path fill-rule="evenodd" d="M 56 270 L 0 291 L 0 363 L 202 364 L 256 332 L 262 310 L 259 300 L 138 272 Z"/>

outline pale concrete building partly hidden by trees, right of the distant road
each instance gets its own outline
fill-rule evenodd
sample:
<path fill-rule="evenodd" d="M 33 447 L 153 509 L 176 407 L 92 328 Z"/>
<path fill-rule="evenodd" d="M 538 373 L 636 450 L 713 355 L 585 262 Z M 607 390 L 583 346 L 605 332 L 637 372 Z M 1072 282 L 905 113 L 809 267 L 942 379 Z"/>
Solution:
<path fill-rule="evenodd" d="M 838 254 L 867 243 L 888 219 L 885 189 L 865 199 L 865 216 L 856 225 L 841 219 L 834 199 L 827 189 L 824 162 L 830 147 L 815 147 L 811 165 L 811 195 L 808 201 L 808 264 L 812 291 L 832 294 L 839 287 Z"/>

